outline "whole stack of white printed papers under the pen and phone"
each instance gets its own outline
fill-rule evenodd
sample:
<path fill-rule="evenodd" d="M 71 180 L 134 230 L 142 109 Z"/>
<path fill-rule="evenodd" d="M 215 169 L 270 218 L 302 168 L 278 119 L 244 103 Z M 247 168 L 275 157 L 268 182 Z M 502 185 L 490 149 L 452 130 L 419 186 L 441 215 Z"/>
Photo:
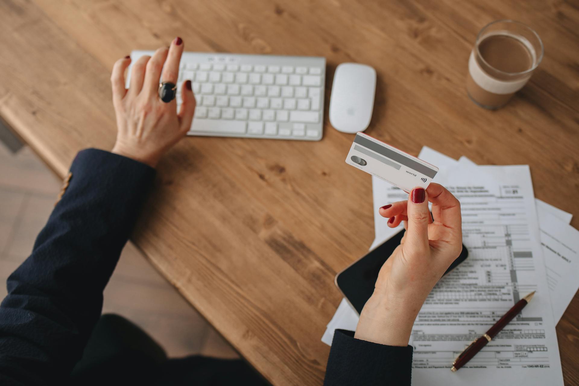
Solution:
<path fill-rule="evenodd" d="M 579 288 L 579 231 L 571 214 L 534 198 L 528 166 L 477 166 L 424 147 L 419 158 L 437 166 L 434 182 L 460 200 L 469 256 L 442 278 L 416 318 L 413 385 L 563 384 L 555 325 Z M 408 194 L 372 177 L 375 241 L 400 231 L 378 214 Z M 456 356 L 512 305 L 536 291 L 495 339 L 459 372 Z M 322 337 L 354 330 L 358 314 L 342 300 Z"/>

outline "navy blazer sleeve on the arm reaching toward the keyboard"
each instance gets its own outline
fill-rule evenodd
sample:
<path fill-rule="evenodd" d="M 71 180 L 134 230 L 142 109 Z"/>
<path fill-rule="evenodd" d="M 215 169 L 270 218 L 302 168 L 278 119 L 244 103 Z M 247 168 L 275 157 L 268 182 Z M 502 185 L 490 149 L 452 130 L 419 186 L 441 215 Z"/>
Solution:
<path fill-rule="evenodd" d="M 145 164 L 97 149 L 79 152 L 71 173 L 32 254 L 8 278 L 1 385 L 66 383 L 155 177 Z"/>

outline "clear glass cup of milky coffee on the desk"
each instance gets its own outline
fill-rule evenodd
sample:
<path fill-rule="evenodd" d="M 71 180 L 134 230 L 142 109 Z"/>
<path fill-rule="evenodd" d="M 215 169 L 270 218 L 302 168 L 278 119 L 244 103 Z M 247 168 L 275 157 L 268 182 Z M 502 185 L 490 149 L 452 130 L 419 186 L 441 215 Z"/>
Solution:
<path fill-rule="evenodd" d="M 485 25 L 468 59 L 468 97 L 483 108 L 501 108 L 525 86 L 543 51 L 541 38 L 525 24 L 497 20 Z"/>

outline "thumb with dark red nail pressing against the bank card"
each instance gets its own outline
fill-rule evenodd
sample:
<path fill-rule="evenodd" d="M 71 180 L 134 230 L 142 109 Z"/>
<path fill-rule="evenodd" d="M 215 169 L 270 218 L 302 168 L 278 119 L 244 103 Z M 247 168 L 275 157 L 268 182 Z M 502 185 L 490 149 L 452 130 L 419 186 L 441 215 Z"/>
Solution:
<path fill-rule="evenodd" d="M 405 245 L 417 253 L 428 251 L 428 197 L 423 188 L 414 188 L 408 196 L 408 230 Z"/>

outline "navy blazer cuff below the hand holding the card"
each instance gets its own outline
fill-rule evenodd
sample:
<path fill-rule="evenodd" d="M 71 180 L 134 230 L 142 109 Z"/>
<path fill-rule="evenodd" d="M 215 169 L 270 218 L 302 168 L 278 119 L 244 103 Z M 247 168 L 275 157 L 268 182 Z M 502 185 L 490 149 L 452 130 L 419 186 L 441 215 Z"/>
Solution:
<path fill-rule="evenodd" d="M 412 346 L 389 346 L 356 339 L 353 331 L 334 333 L 325 386 L 409 385 L 411 376 Z"/>

